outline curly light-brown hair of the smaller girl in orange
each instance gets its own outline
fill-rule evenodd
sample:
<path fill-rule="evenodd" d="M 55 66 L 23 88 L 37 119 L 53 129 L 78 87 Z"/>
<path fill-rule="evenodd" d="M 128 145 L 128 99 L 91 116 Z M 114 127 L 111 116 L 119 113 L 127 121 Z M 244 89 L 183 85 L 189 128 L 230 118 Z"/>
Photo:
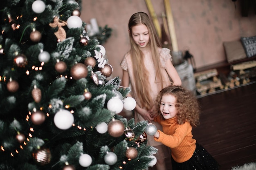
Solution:
<path fill-rule="evenodd" d="M 156 98 L 157 113 L 162 119 L 164 119 L 164 117 L 160 112 L 160 105 L 162 96 L 164 95 L 173 95 L 176 98 L 177 124 L 184 124 L 185 121 L 189 122 L 192 127 L 196 127 L 200 124 L 200 105 L 191 91 L 182 86 L 167 86 L 163 88 Z"/>

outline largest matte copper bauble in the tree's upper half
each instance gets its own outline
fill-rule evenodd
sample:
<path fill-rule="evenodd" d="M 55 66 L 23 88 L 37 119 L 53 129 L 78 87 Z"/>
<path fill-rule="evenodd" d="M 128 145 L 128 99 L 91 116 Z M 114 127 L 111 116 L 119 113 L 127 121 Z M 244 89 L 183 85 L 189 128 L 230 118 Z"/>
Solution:
<path fill-rule="evenodd" d="M 88 69 L 87 67 L 82 63 L 77 63 L 74 66 L 72 66 L 70 70 L 70 75 L 75 79 L 81 79 L 85 78 L 88 75 Z"/>

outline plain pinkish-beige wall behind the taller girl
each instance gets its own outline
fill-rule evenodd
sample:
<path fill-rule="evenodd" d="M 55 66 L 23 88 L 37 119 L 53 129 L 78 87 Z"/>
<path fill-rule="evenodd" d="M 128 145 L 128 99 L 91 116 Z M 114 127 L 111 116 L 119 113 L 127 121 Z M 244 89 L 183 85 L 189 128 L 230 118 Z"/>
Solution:
<path fill-rule="evenodd" d="M 164 0 L 151 1 L 162 24 Z M 239 2 L 235 8 L 231 0 L 170 0 L 178 49 L 183 52 L 188 49 L 197 68 L 224 61 L 223 42 L 256 35 L 255 13 L 251 10 L 249 17 L 242 17 Z M 108 64 L 113 67 L 111 77 L 122 75 L 119 63 L 129 50 L 128 20 L 139 11 L 149 14 L 145 0 L 82 0 L 84 22 L 96 18 L 99 26 L 113 29 L 103 44 Z"/>

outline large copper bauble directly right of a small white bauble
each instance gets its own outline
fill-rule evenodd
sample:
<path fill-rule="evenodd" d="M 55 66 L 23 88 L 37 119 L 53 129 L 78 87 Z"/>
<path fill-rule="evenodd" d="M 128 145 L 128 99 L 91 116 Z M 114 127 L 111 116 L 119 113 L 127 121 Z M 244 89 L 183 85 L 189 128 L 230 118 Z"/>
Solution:
<path fill-rule="evenodd" d="M 124 124 L 120 120 L 116 119 L 116 120 L 110 121 L 110 123 L 108 124 L 108 133 L 112 137 L 120 137 L 121 135 L 124 134 L 124 130 L 125 130 Z"/>

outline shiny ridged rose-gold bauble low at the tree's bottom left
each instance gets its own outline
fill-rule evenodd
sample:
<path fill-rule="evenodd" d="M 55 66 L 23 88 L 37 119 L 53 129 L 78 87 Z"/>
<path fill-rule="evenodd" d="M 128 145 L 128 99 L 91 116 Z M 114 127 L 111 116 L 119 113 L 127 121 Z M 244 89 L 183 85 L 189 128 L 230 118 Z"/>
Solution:
<path fill-rule="evenodd" d="M 42 166 L 50 163 L 52 159 L 51 151 L 48 148 L 38 149 L 32 153 L 32 156 Z"/>

